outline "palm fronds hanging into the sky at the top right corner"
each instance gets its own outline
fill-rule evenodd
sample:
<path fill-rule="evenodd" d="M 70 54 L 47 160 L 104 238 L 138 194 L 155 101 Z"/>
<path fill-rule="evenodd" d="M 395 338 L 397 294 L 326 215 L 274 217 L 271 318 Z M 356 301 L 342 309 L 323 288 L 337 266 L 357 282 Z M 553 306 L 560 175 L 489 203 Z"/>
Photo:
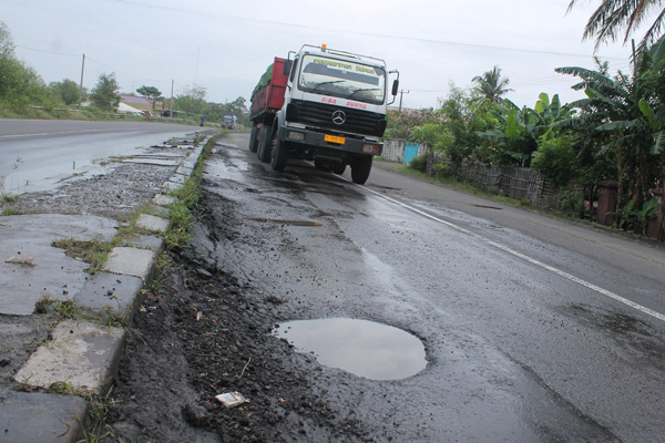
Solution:
<path fill-rule="evenodd" d="M 571 0 L 569 12 L 580 0 Z M 595 35 L 595 49 L 616 38 L 625 29 L 624 44 L 630 35 L 647 18 L 655 14 L 656 19 L 648 28 L 642 42 L 640 52 L 655 42 L 665 25 L 665 0 L 602 0 L 598 8 L 591 16 L 584 28 L 583 39 Z"/>

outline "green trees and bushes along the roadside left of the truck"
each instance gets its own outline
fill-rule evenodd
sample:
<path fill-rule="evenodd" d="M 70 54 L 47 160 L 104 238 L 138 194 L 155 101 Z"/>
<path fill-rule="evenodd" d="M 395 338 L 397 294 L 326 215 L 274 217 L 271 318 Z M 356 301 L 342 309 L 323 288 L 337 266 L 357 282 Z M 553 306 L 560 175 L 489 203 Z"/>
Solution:
<path fill-rule="evenodd" d="M 63 119 L 63 120 L 136 120 L 153 121 L 155 117 L 119 113 L 120 86 L 114 73 L 100 75 L 89 91 L 70 79 L 47 84 L 39 73 L 19 60 L 9 28 L 0 21 L 0 117 L 4 119 Z M 171 110 L 171 100 L 155 86 L 142 85 L 129 94 L 139 94 L 153 101 L 153 114 L 160 116 L 162 109 Z M 207 91 L 194 86 L 173 100 L 173 117 L 170 123 L 197 125 L 201 116 L 219 126 L 224 115 L 233 114 L 239 127 L 249 126 L 249 112 L 244 97 L 231 103 L 213 103 L 205 100 Z"/>

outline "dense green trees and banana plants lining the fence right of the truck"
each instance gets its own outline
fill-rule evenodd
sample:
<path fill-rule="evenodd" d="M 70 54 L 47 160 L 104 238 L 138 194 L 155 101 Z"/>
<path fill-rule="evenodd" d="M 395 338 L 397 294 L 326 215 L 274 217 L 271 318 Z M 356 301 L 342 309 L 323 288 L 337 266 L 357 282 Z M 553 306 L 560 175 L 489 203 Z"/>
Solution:
<path fill-rule="evenodd" d="M 428 145 L 429 156 L 411 167 L 449 182 L 468 163 L 533 168 L 559 189 L 570 214 L 592 207 L 598 185 L 611 183 L 614 226 L 645 234 L 659 215 L 663 240 L 665 37 L 652 40 L 634 47 L 631 72 L 612 75 L 600 59 L 595 69 L 556 69 L 579 79 L 573 89 L 585 97 L 575 102 L 542 93 L 533 107 L 520 107 L 503 97 L 510 82 L 494 66 L 471 89 L 451 84 L 438 109 L 390 114 L 386 137 Z"/>

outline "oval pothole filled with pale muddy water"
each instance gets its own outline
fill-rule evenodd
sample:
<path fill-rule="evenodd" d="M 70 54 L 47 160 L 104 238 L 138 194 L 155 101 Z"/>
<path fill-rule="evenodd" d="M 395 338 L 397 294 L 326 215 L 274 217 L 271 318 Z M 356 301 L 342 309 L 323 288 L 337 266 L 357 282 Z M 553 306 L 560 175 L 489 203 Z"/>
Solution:
<path fill-rule="evenodd" d="M 275 336 L 319 363 L 370 380 L 401 380 L 427 365 L 424 346 L 398 328 L 349 318 L 296 320 L 279 324 Z"/>

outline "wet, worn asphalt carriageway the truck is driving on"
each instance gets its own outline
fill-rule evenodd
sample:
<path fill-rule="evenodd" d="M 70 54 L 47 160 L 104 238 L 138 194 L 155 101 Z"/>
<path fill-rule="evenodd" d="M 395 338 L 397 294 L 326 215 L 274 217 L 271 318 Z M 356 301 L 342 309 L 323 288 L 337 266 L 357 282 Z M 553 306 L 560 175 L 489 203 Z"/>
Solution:
<path fill-rule="evenodd" d="M 311 374 L 377 440 L 665 441 L 662 250 L 377 167 L 367 187 L 306 163 L 274 173 L 247 143 L 232 135 L 207 162 L 205 188 L 248 238 L 211 257 L 279 298 L 285 322 L 370 320 L 426 347 L 402 380 Z"/>

